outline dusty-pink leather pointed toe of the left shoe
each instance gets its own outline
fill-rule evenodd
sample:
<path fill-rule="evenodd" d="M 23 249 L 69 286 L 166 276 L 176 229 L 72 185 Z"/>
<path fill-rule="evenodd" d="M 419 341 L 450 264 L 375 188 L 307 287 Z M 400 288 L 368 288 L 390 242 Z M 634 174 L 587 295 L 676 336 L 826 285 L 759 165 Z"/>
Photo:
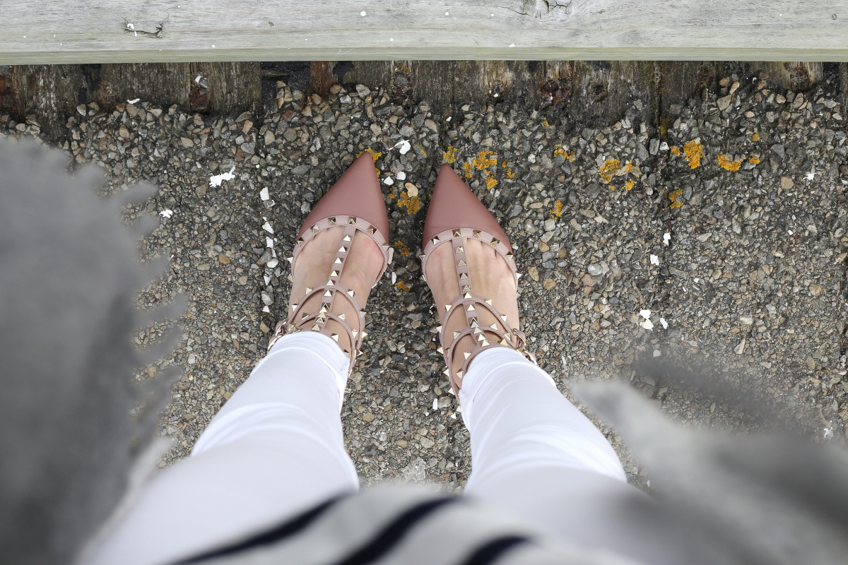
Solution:
<path fill-rule="evenodd" d="M 380 180 L 371 153 L 357 158 L 329 191 L 315 204 L 306 216 L 298 237 L 304 235 L 312 224 L 330 216 L 354 216 L 365 219 L 388 241 L 388 214 L 383 201 Z"/>

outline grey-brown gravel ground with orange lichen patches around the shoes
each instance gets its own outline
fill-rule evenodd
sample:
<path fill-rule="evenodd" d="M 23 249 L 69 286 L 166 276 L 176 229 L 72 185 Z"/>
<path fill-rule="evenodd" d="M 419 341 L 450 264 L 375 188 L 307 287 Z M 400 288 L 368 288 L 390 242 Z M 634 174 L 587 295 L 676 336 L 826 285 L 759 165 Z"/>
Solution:
<path fill-rule="evenodd" d="M 760 77 L 722 83 L 704 102 L 672 106 L 659 128 L 633 121 L 638 100 L 615 124 L 586 129 L 556 106 L 438 115 L 361 85 L 334 86 L 323 100 L 278 83 L 279 108 L 264 116 L 143 101 L 78 108 L 64 148 L 103 166 L 104 192 L 159 186 L 126 213 L 159 214 L 141 255 L 172 267 L 139 306 L 189 298 L 181 345 L 138 375 L 185 368 L 161 419 L 174 444 L 160 466 L 187 456 L 262 357 L 287 300 L 288 263 L 276 257 L 366 150 L 384 180 L 394 258 L 369 301 L 370 335 L 342 413 L 363 484 L 430 479 L 460 490 L 471 471 L 416 259 L 445 161 L 516 244 L 524 324 L 566 395 L 575 380 L 627 379 L 686 425 L 779 425 L 844 445 L 845 108 L 829 84 L 795 97 Z M 0 117 L 0 128 L 38 136 L 37 122 Z M 140 331 L 138 345 L 164 330 Z M 602 429 L 628 478 L 649 487 Z"/>

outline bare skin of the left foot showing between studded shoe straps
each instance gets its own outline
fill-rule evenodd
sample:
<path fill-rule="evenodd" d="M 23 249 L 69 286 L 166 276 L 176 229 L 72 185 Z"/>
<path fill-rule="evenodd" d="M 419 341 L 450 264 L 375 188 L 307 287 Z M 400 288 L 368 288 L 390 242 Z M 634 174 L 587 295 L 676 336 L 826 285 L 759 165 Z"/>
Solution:
<path fill-rule="evenodd" d="M 292 293 L 288 299 L 288 312 L 292 312 L 291 306 L 299 304 L 306 296 L 306 288 L 315 288 L 326 284 L 330 280 L 332 263 L 336 259 L 336 252 L 342 245 L 344 237 L 344 226 L 332 227 L 323 230 L 313 237 L 309 243 L 298 253 L 292 265 Z M 382 252 L 370 237 L 360 231 L 354 235 L 354 241 L 349 247 L 347 258 L 344 259 L 344 269 L 340 282 L 354 291 L 354 295 L 365 308 L 365 301 L 371 292 L 371 286 L 377 282 L 377 276 L 382 269 Z M 300 312 L 316 313 L 321 309 L 321 296 L 315 294 L 304 304 Z M 359 313 L 354 310 L 349 300 L 338 297 L 333 300 L 332 312 L 344 314 L 345 321 L 353 330 L 361 331 Z M 295 321 L 297 325 L 297 321 Z M 304 326 L 308 330 L 311 326 Z M 338 344 L 350 351 L 350 337 L 341 324 L 335 320 L 327 319 L 326 329 L 333 334 L 338 334 Z"/>

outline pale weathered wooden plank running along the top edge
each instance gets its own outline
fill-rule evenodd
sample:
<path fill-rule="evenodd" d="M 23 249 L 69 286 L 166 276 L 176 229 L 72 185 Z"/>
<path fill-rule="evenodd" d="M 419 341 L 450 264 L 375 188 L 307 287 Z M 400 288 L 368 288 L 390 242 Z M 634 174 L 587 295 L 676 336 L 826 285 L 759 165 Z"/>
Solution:
<path fill-rule="evenodd" d="M 3 0 L 3 28 L 0 64 L 848 61 L 845 0 Z"/>

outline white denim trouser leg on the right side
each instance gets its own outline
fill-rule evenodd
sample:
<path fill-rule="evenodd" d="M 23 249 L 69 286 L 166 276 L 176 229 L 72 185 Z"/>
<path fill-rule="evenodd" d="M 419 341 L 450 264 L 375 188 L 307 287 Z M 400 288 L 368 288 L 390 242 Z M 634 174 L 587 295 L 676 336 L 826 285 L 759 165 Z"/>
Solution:
<path fill-rule="evenodd" d="M 646 543 L 656 538 L 656 524 L 633 519 L 630 502 L 655 502 L 627 484 L 604 435 L 520 353 L 496 347 L 477 356 L 462 379 L 460 403 L 471 433 L 467 496 L 561 540 L 646 563 L 682 557 Z M 661 520 L 659 509 L 656 515 Z"/>

